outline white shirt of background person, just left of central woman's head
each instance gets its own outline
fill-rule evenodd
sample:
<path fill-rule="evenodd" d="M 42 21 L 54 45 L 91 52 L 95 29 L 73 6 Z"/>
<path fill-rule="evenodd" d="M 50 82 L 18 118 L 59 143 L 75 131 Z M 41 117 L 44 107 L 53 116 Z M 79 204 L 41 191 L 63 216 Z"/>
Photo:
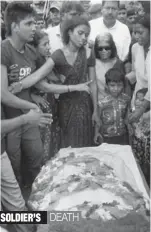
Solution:
<path fill-rule="evenodd" d="M 45 32 L 48 34 L 51 53 L 63 48 L 61 39 L 60 24 L 56 27 L 48 27 Z"/>

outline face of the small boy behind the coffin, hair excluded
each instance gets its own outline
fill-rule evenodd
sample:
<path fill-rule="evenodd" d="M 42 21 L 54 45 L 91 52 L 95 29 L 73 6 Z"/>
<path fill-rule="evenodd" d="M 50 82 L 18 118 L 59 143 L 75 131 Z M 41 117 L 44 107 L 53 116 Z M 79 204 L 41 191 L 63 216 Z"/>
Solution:
<path fill-rule="evenodd" d="M 109 82 L 107 84 L 107 88 L 109 93 L 113 96 L 113 97 L 118 97 L 121 92 L 124 89 L 124 83 L 122 81 L 119 82 Z"/>

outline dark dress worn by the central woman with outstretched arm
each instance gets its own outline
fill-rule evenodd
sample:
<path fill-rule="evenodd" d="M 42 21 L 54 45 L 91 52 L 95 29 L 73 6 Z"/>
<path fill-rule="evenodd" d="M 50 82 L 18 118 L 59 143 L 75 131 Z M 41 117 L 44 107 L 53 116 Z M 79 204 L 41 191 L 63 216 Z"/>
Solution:
<path fill-rule="evenodd" d="M 95 66 L 95 59 L 87 59 L 81 48 L 74 65 L 70 65 L 61 49 L 52 54 L 55 68 L 66 77 L 65 85 L 87 81 L 88 66 Z M 88 147 L 93 143 L 92 100 L 86 92 L 70 92 L 59 97 L 59 121 L 62 129 L 62 147 Z"/>

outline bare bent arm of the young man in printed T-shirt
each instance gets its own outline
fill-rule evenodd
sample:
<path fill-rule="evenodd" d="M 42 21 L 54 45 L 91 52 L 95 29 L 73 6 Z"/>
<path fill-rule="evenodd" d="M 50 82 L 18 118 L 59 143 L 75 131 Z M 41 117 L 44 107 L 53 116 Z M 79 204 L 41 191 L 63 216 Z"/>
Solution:
<path fill-rule="evenodd" d="M 17 109 L 37 109 L 36 104 L 20 99 L 9 92 L 7 68 L 1 65 L 1 101 L 7 106 Z"/>

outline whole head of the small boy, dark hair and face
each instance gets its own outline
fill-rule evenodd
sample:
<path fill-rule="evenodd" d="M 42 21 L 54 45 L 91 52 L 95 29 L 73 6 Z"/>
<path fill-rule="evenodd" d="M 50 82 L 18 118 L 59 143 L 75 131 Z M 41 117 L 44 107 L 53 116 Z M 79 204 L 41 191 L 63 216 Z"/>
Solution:
<path fill-rule="evenodd" d="M 125 76 L 118 68 L 111 68 L 105 74 L 107 90 L 112 97 L 118 97 L 124 89 Z"/>

